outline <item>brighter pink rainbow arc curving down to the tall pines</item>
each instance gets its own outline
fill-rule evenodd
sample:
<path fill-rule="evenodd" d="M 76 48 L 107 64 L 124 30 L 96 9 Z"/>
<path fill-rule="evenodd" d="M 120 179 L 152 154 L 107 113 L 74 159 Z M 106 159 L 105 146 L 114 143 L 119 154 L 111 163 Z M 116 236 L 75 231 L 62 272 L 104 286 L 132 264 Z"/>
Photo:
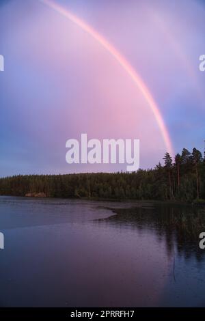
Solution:
<path fill-rule="evenodd" d="M 133 80 L 135 85 L 139 88 L 145 100 L 148 102 L 148 105 L 152 110 L 152 113 L 154 114 L 154 117 L 159 126 L 159 129 L 161 130 L 161 135 L 165 142 L 167 152 L 169 152 L 169 154 L 171 155 L 174 155 L 174 150 L 172 148 L 172 141 L 169 137 L 169 133 L 163 121 L 163 117 L 161 116 L 159 107 L 154 101 L 152 94 L 150 94 L 148 87 L 146 87 L 145 83 L 143 83 L 143 80 L 141 79 L 139 74 L 137 74 L 133 66 L 129 64 L 126 58 L 123 57 L 123 55 L 112 44 L 110 44 L 102 35 L 100 35 L 98 31 L 96 31 L 90 25 L 85 23 L 81 18 L 78 18 L 77 16 L 72 14 L 70 11 L 63 8 L 61 5 L 58 5 L 57 3 L 55 3 L 53 0 L 39 0 L 39 1 L 44 3 L 45 5 L 48 5 L 49 8 L 52 8 L 53 10 L 55 10 L 55 12 L 58 12 L 62 16 L 68 18 L 70 21 L 72 21 L 72 23 L 75 23 L 85 32 L 89 33 L 90 36 L 92 36 L 92 38 L 94 38 L 99 44 L 101 44 L 112 55 L 112 57 L 115 58 L 116 61 L 118 61 L 118 63 L 120 64 L 120 66 L 122 66 L 124 71 L 129 76 L 131 76 L 131 79 Z"/>

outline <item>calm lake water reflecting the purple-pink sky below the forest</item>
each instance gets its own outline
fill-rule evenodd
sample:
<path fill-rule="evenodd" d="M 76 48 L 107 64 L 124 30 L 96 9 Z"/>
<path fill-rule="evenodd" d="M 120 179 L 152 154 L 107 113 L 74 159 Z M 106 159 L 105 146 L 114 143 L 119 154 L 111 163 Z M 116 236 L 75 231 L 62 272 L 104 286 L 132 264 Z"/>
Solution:
<path fill-rule="evenodd" d="M 0 197 L 0 306 L 203 307 L 203 231 L 189 206 Z"/>

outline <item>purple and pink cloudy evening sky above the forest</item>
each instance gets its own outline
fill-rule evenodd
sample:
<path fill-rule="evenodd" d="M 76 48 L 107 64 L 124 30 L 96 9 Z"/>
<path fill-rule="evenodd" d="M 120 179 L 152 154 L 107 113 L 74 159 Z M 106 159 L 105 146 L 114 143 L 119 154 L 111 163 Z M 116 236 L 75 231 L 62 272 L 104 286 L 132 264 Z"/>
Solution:
<path fill-rule="evenodd" d="M 143 169 L 203 152 L 204 15 L 197 0 L 1 0 L 0 176 L 126 170 L 68 165 L 81 133 L 139 139 Z"/>

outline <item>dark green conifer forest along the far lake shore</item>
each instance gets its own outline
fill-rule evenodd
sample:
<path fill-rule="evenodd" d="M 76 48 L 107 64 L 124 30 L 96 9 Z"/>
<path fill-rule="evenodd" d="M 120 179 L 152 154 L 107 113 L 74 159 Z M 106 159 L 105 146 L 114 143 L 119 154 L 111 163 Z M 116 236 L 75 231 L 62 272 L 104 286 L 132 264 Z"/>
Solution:
<path fill-rule="evenodd" d="M 0 179 L 1 195 L 100 199 L 205 199 L 205 161 L 202 153 L 185 148 L 174 161 L 169 153 L 164 165 L 133 173 L 74 173 L 66 175 L 12 176 Z"/>

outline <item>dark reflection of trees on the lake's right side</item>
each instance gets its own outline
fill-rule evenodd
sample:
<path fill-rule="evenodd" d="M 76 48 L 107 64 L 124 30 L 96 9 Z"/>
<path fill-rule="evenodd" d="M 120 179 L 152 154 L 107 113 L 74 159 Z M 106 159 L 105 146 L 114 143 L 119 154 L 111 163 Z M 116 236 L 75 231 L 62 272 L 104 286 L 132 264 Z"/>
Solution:
<path fill-rule="evenodd" d="M 201 232 L 205 232 L 205 212 L 195 206 L 177 204 L 141 204 L 133 208 L 112 209 L 113 215 L 105 221 L 124 227 L 150 229 L 156 233 L 159 241 L 165 240 L 167 253 L 174 250 L 185 259 L 193 257 L 202 260 L 205 249 L 199 247 Z"/>

